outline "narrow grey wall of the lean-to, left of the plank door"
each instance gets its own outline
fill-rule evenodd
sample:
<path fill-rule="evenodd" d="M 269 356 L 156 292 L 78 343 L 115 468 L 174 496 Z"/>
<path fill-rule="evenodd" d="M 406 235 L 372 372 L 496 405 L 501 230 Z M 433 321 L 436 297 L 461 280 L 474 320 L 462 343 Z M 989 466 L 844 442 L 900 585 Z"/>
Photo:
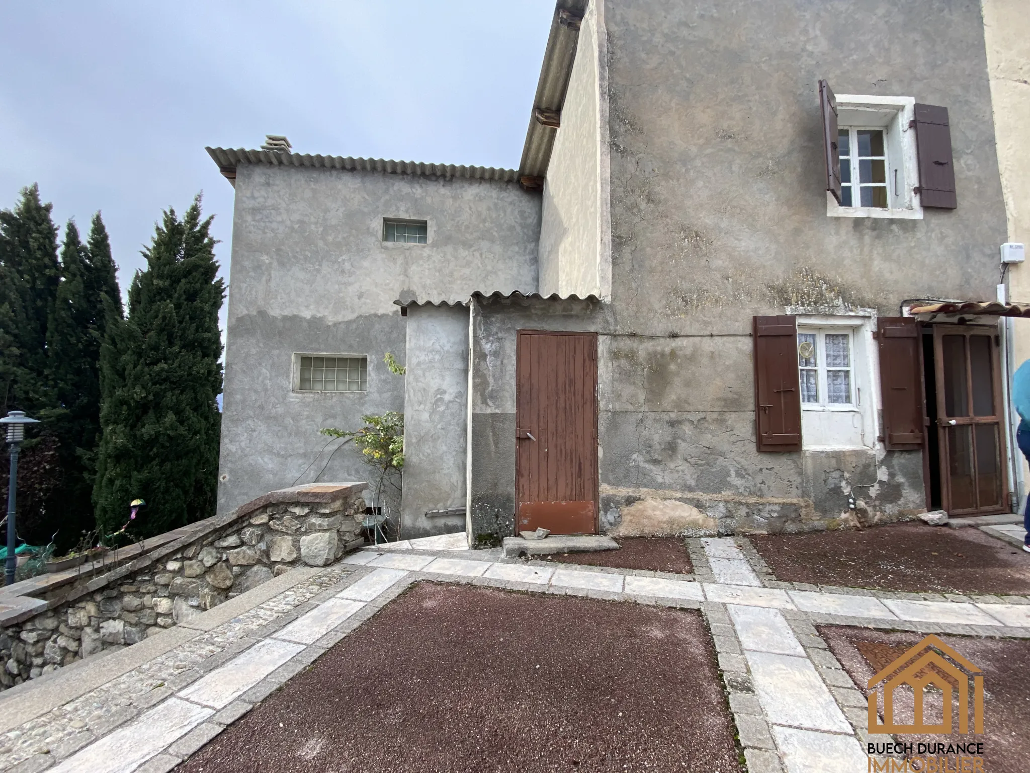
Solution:
<path fill-rule="evenodd" d="M 410 306 L 404 399 L 402 537 L 451 534 L 465 513 L 426 516 L 466 506 L 469 309 Z"/>

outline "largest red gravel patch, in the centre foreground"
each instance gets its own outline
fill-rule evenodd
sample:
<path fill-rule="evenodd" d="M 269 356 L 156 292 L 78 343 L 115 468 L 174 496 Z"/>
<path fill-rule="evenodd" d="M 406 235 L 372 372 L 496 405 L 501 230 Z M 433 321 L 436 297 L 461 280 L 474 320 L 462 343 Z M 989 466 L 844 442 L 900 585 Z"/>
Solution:
<path fill-rule="evenodd" d="M 422 582 L 177 770 L 740 765 L 699 613 Z"/>

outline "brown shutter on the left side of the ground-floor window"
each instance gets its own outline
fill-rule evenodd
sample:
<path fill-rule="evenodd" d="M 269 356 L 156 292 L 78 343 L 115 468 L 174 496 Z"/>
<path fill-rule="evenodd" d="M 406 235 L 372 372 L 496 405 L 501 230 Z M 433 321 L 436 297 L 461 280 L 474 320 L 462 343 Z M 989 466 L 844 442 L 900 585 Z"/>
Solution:
<path fill-rule="evenodd" d="M 801 450 L 797 322 L 793 316 L 756 316 L 754 336 L 758 450 Z"/>

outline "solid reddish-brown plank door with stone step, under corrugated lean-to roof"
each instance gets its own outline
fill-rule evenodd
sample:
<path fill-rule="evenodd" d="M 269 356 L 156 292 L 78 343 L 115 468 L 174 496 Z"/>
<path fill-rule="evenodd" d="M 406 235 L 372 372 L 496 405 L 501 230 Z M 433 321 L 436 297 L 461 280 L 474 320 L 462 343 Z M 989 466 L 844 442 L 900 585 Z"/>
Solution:
<path fill-rule="evenodd" d="M 516 347 L 518 531 L 593 534 L 597 337 L 520 330 Z"/>

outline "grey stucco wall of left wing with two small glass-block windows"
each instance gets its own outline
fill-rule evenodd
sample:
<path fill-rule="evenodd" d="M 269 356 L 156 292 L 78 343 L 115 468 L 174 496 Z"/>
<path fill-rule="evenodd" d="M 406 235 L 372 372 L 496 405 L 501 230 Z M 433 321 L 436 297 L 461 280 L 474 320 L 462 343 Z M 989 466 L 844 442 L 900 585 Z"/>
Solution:
<path fill-rule="evenodd" d="M 382 219 L 428 243 L 382 241 Z M 295 482 L 365 479 L 322 427 L 404 410 L 402 296 L 537 290 L 540 195 L 515 183 L 241 165 L 236 178 L 218 510 Z M 368 392 L 300 393 L 295 352 L 367 355 Z"/>

